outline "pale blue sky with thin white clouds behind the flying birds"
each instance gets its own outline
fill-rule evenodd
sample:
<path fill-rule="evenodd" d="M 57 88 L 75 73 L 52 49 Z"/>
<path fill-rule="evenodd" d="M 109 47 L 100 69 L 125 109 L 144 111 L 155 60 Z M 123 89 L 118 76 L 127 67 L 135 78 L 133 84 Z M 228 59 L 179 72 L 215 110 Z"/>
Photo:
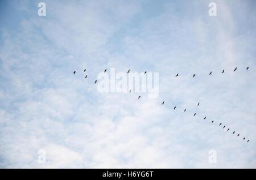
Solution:
<path fill-rule="evenodd" d="M 0 168 L 256 168 L 255 45 L 254 0 L 1 1 Z M 105 68 L 159 97 L 98 92 Z"/>

